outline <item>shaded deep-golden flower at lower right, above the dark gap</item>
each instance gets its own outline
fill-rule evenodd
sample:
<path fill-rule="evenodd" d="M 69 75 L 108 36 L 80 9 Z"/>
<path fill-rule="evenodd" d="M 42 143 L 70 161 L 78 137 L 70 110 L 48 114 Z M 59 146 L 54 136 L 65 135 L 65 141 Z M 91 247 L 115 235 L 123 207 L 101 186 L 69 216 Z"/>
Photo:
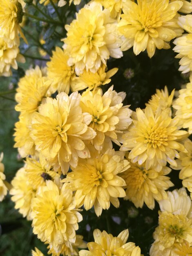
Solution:
<path fill-rule="evenodd" d="M 147 169 L 145 164 L 138 165 L 130 161 L 130 165 L 131 167 L 121 174 L 127 184 L 124 187 L 126 189 L 124 199 L 132 201 L 136 207 L 142 208 L 145 202 L 147 207 L 154 209 L 155 200 L 167 198 L 165 190 L 174 186 L 170 177 L 165 176 L 171 169 L 165 166 L 158 172 L 156 168 Z"/>

